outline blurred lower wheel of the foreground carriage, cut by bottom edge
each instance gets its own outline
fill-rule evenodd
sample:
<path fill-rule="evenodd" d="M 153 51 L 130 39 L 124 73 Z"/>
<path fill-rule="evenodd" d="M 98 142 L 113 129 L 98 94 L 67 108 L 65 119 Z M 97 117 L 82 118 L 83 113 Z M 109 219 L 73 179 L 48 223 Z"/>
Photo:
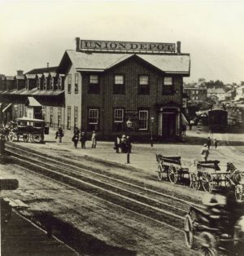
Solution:
<path fill-rule="evenodd" d="M 216 238 L 209 232 L 202 232 L 199 236 L 201 243 L 201 255 L 217 256 Z"/>

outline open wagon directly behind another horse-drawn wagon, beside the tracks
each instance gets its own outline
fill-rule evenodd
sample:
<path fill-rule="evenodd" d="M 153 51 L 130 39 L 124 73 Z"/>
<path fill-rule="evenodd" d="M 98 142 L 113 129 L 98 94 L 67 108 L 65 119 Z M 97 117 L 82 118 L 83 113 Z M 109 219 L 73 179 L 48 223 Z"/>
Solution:
<path fill-rule="evenodd" d="M 177 183 L 182 180 L 185 175 L 189 177 L 189 169 L 182 165 L 181 157 L 163 157 L 156 154 L 158 162 L 158 179 L 168 179 L 171 183 Z"/>

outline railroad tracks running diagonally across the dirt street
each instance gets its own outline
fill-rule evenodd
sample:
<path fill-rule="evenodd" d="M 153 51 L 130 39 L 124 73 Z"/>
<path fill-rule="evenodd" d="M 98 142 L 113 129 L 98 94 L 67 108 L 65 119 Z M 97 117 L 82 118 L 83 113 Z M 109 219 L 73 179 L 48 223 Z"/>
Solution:
<path fill-rule="evenodd" d="M 7 143 L 6 151 L 16 164 L 30 171 L 181 231 L 189 206 L 196 205 L 153 188 L 145 188 L 144 183 L 121 179 L 115 174 L 93 170 L 67 159 L 48 157 L 13 143 Z"/>

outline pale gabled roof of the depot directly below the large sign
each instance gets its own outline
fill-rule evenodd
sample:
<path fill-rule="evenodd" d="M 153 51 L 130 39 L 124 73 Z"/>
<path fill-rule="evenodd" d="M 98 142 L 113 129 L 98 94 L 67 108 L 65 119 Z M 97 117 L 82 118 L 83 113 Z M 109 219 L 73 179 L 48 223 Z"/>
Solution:
<path fill-rule="evenodd" d="M 190 55 L 84 53 L 73 50 L 68 50 L 65 54 L 68 54 L 76 70 L 80 71 L 105 71 L 136 55 L 164 73 L 190 74 Z"/>

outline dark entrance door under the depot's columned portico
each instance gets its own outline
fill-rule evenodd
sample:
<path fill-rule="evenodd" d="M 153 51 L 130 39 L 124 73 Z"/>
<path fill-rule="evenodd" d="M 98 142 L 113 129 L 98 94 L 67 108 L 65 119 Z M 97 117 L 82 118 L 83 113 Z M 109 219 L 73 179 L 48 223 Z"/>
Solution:
<path fill-rule="evenodd" d="M 176 113 L 163 113 L 163 138 L 173 139 L 176 137 Z"/>

